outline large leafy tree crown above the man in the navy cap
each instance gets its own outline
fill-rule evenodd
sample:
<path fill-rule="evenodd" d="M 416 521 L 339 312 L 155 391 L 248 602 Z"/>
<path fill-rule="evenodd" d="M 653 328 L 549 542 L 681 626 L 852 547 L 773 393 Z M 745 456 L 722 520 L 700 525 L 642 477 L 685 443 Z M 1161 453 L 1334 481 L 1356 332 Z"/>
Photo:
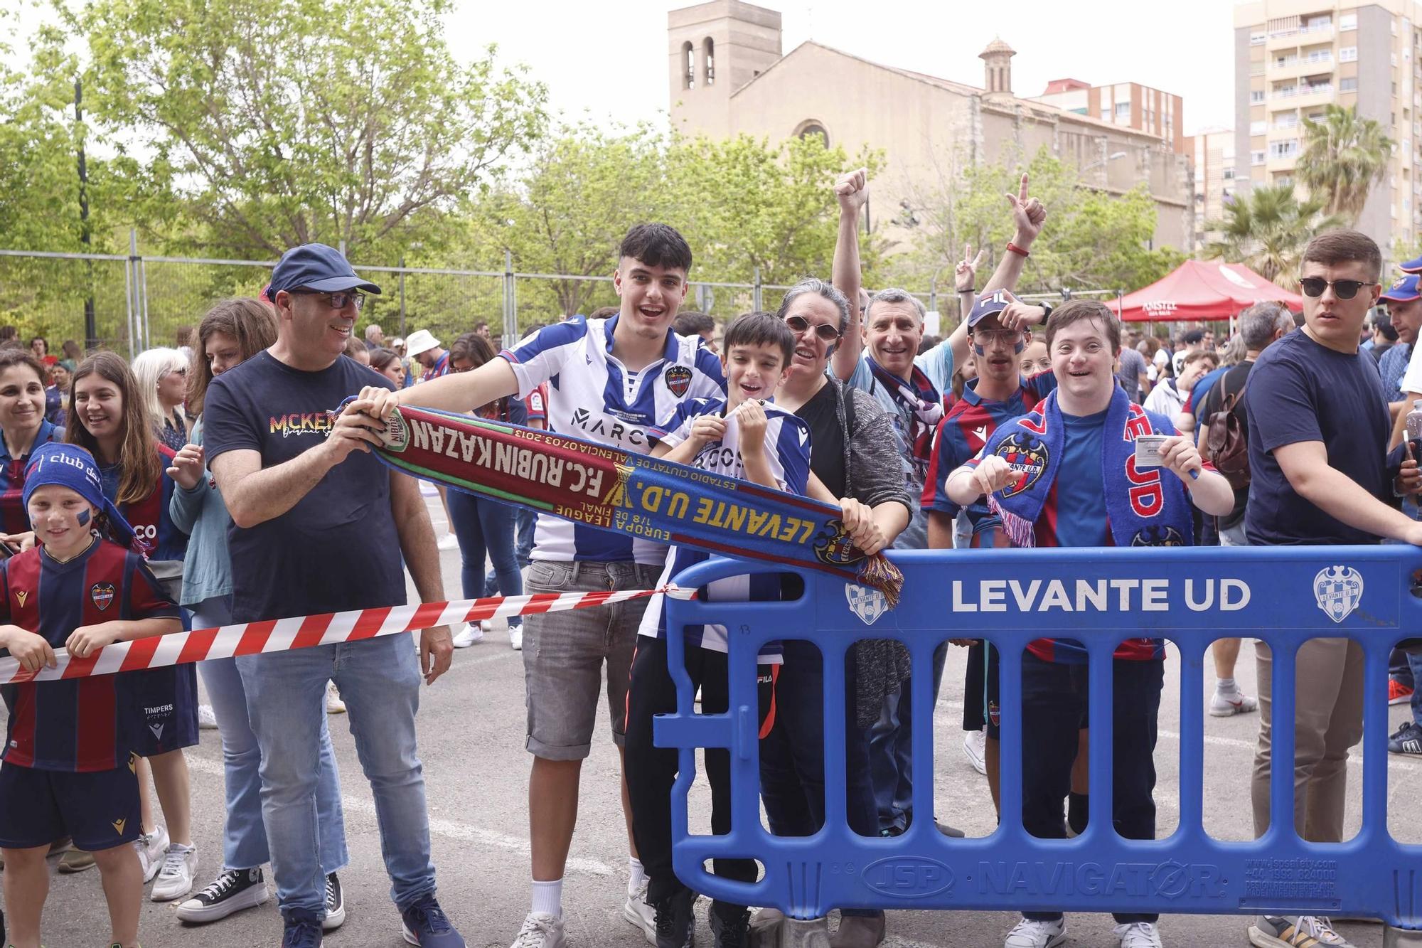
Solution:
<path fill-rule="evenodd" d="M 95 0 L 75 27 L 98 118 L 145 145 L 127 165 L 135 211 L 172 249 L 243 259 L 310 241 L 394 258 L 447 236 L 545 122 L 543 87 L 492 47 L 455 63 L 447 7 Z"/>

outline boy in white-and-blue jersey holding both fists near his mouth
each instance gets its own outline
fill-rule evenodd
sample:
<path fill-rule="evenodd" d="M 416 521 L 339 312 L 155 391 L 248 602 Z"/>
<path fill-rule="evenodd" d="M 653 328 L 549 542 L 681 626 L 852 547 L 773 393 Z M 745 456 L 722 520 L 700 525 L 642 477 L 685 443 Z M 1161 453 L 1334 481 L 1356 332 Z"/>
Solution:
<path fill-rule="evenodd" d="M 765 401 L 789 374 L 795 336 L 769 313 L 745 313 L 725 330 L 727 374 L 724 399 L 684 401 L 663 433 L 656 433 L 654 457 L 693 464 L 707 471 L 805 494 L 809 480 L 809 426 L 772 401 Z M 673 547 L 657 585 L 710 554 Z M 704 598 L 721 601 L 776 599 L 779 574 L 717 579 Z M 637 655 L 627 697 L 627 786 L 631 793 L 637 851 L 647 870 L 647 901 L 656 910 L 657 948 L 691 944 L 695 892 L 671 868 L 671 784 L 677 750 L 654 747 L 651 720 L 677 710 L 677 688 L 667 670 L 667 616 L 661 595 L 653 596 L 638 629 Z M 729 706 L 725 626 L 687 626 L 685 666 L 701 689 L 701 713 L 725 713 Z M 766 646 L 762 663 L 779 663 L 779 648 Z M 707 749 L 711 783 L 711 831 L 731 831 L 731 759 L 725 749 Z M 755 860 L 715 860 L 715 874 L 754 883 Z M 711 904 L 711 932 L 717 948 L 745 948 L 749 911 L 745 905 Z"/>

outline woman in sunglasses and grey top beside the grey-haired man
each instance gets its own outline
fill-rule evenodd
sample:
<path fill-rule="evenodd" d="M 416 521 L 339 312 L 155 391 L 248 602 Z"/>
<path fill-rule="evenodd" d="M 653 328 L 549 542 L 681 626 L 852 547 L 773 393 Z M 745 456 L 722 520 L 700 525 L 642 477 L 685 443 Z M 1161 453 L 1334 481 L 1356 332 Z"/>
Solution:
<path fill-rule="evenodd" d="M 781 300 L 776 316 L 795 333 L 789 377 L 775 403 L 811 428 L 811 494 L 839 504 L 853 498 L 869 508 L 877 528 L 873 549 L 893 542 L 907 525 L 913 497 L 904 488 L 893 421 L 873 397 L 828 374 L 829 359 L 849 322 L 849 300 L 819 279 L 801 280 Z M 897 642 L 866 639 L 846 655 L 846 774 L 825 773 L 823 685 L 819 651 L 788 639 L 775 680 L 775 722 L 761 744 L 761 790 L 771 831 L 811 836 L 825 823 L 825 783 L 846 780 L 846 817 L 862 836 L 879 836 L 879 816 L 869 784 L 866 727 L 884 696 L 909 672 Z M 808 804 L 808 806 L 806 806 Z M 835 944 L 860 932 L 883 938 L 882 911 L 843 910 Z M 772 925 L 779 912 L 762 910 L 755 927 Z M 845 944 L 853 944 L 845 941 Z"/>

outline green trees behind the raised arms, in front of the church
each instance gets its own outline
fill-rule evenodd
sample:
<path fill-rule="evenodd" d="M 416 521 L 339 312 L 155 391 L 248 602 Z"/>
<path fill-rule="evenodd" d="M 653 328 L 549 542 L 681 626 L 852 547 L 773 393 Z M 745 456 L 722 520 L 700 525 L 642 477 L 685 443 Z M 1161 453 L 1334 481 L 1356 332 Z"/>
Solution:
<path fill-rule="evenodd" d="M 892 256 L 886 266 L 903 283 L 927 283 L 951 293 L 953 268 L 963 246 L 987 248 L 990 259 L 1012 238 L 1004 195 L 1017 192 L 1022 172 L 1034 196 L 1047 205 L 1044 239 L 1032 246 L 1022 292 L 1075 289 L 1139 289 L 1180 265 L 1175 248 L 1152 248 L 1156 208 L 1146 185 L 1115 195 L 1085 185 L 1075 165 L 1042 148 L 1025 164 L 1010 155 L 997 164 L 966 165 L 934 189 L 917 195 L 920 216 L 914 249 Z M 921 211 L 919 208 L 921 206 Z"/>

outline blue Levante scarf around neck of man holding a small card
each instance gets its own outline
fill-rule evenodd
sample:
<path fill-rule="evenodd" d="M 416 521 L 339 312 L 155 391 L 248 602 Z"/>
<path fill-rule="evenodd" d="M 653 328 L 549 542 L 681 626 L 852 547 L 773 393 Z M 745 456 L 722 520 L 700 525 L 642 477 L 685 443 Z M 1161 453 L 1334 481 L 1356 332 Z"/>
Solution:
<path fill-rule="evenodd" d="M 1163 467 L 1136 470 L 1135 440 L 1158 434 L 1146 410 L 1116 386 L 1102 431 L 1101 484 L 1116 547 L 1189 547 L 1194 539 L 1190 501 L 1180 480 Z M 988 508 L 1017 547 L 1035 547 L 1034 525 L 1057 484 L 1066 424 L 1057 391 L 1037 411 L 1001 424 L 983 448 L 1018 473 L 1017 484 L 988 497 Z M 1119 436 L 1116 434 L 1119 433 Z"/>

